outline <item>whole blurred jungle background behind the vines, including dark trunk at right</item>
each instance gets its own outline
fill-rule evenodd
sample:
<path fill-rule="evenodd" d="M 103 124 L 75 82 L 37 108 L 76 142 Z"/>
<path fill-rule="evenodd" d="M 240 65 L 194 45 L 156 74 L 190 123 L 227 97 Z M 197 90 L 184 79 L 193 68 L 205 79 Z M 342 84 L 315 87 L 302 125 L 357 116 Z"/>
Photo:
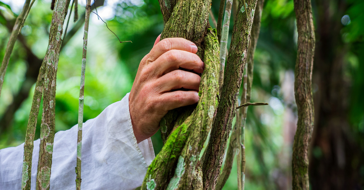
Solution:
<path fill-rule="evenodd" d="M 0 1 L 1 60 L 23 4 L 24 0 Z M 71 19 L 60 53 L 56 131 L 77 124 L 85 4 L 79 1 L 80 19 L 76 23 Z M 120 40 L 132 43 L 120 44 L 91 13 L 84 121 L 130 92 L 140 60 L 153 47 L 164 26 L 156 0 L 97 0 L 92 4 Z M 15 44 L 0 98 L 1 149 L 24 142 L 34 83 L 48 44 L 50 5 L 51 0 L 35 1 Z M 219 1 L 214 0 L 215 17 L 218 6 Z M 313 0 L 312 8 L 316 49 L 310 186 L 320 190 L 363 189 L 364 1 Z M 232 28 L 230 22 L 230 32 Z M 246 189 L 292 189 L 292 143 L 297 122 L 293 91 L 296 53 L 293 0 L 266 0 L 254 58 L 252 102 L 268 102 L 269 106 L 248 108 Z M 152 140 L 157 154 L 162 148 L 160 134 Z M 237 189 L 236 162 L 224 189 Z"/>

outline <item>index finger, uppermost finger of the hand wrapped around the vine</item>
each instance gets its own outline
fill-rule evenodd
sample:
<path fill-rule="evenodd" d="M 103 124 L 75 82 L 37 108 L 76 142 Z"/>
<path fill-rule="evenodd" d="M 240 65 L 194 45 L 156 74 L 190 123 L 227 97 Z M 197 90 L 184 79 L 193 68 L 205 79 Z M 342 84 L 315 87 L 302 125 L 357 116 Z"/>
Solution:
<path fill-rule="evenodd" d="M 150 62 L 154 62 L 159 56 L 169 50 L 183 50 L 195 54 L 197 46 L 192 41 L 182 37 L 165 38 L 154 45 L 149 52 L 148 59 Z"/>

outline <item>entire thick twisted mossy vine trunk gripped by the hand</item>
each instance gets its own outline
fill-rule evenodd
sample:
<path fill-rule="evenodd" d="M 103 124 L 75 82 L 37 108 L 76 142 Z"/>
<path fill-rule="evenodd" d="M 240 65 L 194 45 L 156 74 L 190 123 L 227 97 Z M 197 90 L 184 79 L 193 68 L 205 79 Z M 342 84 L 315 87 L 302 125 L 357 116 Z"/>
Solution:
<path fill-rule="evenodd" d="M 166 135 L 163 149 L 149 166 L 142 189 L 191 189 L 202 186 L 199 181 L 202 172 L 198 172 L 196 165 L 217 106 L 219 45 L 215 30 L 208 24 L 211 1 L 179 0 L 174 7 L 167 6 L 165 1 L 160 4 L 166 21 L 161 39 L 183 37 L 193 41 L 198 47 L 197 55 L 205 63 L 205 70 L 201 75 L 200 99 L 195 110 L 190 107 L 179 115 L 171 110 L 168 114 L 177 116 L 174 122 L 168 121 L 168 114 L 161 120 L 162 134 L 172 131 L 170 128 L 174 130 Z M 163 123 L 169 126 L 163 126 Z"/>

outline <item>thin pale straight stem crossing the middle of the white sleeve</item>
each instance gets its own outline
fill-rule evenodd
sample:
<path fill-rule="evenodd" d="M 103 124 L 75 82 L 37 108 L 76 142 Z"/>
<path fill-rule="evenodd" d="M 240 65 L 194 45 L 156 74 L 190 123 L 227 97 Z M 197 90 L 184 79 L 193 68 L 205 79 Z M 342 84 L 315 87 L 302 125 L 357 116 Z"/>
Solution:
<path fill-rule="evenodd" d="M 83 33 L 83 48 L 82 48 L 82 66 L 81 66 L 81 82 L 80 96 L 78 99 L 78 134 L 77 134 L 77 162 L 76 162 L 76 190 L 81 189 L 81 149 L 82 149 L 82 124 L 83 124 L 83 101 L 85 88 L 85 69 L 86 69 L 86 53 L 87 53 L 87 37 L 88 24 L 90 23 L 91 0 L 87 0 L 85 28 Z"/>

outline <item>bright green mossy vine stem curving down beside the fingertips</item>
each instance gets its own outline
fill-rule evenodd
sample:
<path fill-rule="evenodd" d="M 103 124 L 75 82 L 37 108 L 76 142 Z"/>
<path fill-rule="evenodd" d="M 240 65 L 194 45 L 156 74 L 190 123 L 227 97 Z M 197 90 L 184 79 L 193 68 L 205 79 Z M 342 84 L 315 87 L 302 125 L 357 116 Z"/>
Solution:
<path fill-rule="evenodd" d="M 205 37 L 205 70 L 201 76 L 197 107 L 170 134 L 163 149 L 149 166 L 142 189 L 151 189 L 152 184 L 155 185 L 153 189 L 190 189 L 192 186 L 195 178 L 192 171 L 195 170 L 199 152 L 210 130 L 218 92 L 218 42 L 213 30 L 210 31 L 212 33 Z"/>

